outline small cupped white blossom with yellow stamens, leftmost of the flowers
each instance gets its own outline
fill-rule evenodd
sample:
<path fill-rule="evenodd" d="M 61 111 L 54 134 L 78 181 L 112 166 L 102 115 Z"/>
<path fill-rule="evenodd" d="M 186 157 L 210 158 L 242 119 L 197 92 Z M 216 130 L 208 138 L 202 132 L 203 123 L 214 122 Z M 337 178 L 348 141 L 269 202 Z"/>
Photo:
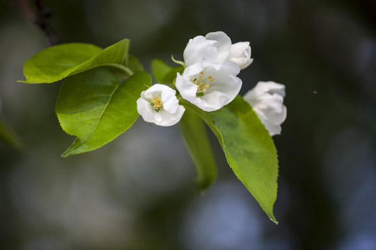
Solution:
<path fill-rule="evenodd" d="M 166 85 L 155 84 L 141 92 L 137 111 L 145 122 L 159 126 L 172 126 L 182 118 L 185 108 L 179 105 L 176 91 Z"/>

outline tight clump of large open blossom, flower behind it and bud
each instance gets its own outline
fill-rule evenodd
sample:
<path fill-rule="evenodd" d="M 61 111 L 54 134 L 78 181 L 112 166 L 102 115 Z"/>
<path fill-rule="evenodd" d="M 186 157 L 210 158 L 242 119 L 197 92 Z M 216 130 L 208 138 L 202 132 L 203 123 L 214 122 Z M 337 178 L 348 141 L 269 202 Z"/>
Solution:
<path fill-rule="evenodd" d="M 249 42 L 231 44 L 221 31 L 198 35 L 184 51 L 185 71 L 176 76 L 182 98 L 205 111 L 214 111 L 233 101 L 242 88 L 240 69 L 252 63 Z"/>

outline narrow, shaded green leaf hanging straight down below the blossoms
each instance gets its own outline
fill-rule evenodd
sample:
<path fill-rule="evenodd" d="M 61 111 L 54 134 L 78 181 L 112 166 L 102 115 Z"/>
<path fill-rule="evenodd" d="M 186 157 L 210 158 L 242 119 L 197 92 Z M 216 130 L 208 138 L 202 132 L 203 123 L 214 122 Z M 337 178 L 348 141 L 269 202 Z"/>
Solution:
<path fill-rule="evenodd" d="M 212 147 L 201 118 L 187 108 L 179 122 L 185 144 L 197 169 L 196 186 L 200 192 L 213 183 L 217 177 Z"/>

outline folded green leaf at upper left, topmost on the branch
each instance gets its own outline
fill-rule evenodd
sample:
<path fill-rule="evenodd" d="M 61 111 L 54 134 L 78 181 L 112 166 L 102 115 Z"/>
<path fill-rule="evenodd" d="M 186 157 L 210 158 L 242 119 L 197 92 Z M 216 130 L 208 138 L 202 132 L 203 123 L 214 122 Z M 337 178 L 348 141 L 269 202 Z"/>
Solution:
<path fill-rule="evenodd" d="M 23 83 L 53 83 L 99 66 L 129 70 L 127 64 L 130 41 L 125 39 L 101 49 L 93 44 L 59 44 L 43 49 L 24 63 Z M 129 72 L 130 73 L 130 72 Z"/>

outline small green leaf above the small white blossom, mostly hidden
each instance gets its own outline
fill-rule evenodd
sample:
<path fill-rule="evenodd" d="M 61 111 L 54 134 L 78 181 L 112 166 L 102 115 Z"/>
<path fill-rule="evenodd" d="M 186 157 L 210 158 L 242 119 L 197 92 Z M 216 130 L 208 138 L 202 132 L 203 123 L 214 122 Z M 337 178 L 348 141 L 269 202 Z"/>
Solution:
<path fill-rule="evenodd" d="M 182 65 L 178 67 L 172 67 L 164 61 L 155 58 L 151 63 L 152 75 L 154 76 L 157 83 L 173 83 L 173 80 L 176 78 L 177 73 L 182 73 L 184 67 Z"/>

